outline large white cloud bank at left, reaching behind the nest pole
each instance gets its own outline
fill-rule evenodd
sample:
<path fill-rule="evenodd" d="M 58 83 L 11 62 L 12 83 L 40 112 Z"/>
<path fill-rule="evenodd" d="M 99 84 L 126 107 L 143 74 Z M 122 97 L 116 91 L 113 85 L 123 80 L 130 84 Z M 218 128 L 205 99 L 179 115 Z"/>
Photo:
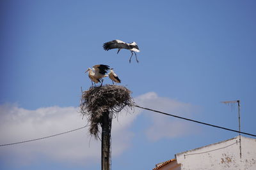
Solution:
<path fill-rule="evenodd" d="M 129 147 L 132 132 L 128 127 L 136 115 L 138 111 L 132 114 L 124 111 L 118 117 L 118 121 L 113 120 L 112 143 L 115 146 L 112 148 L 113 157 Z M 4 104 L 0 106 L 0 144 L 42 138 L 77 129 L 86 124 L 87 120 L 86 118 L 82 120 L 79 108 L 52 106 L 25 110 L 13 104 Z M 124 133 L 125 137 L 122 136 Z M 6 161 L 11 163 L 19 161 L 22 164 L 29 164 L 38 154 L 65 162 L 95 162 L 100 158 L 100 141 L 91 138 L 88 128 L 85 128 L 54 138 L 0 147 L 0 159 L 6 158 Z M 12 159 L 9 159 L 10 157 Z M 13 160 L 15 157 L 17 160 Z"/>

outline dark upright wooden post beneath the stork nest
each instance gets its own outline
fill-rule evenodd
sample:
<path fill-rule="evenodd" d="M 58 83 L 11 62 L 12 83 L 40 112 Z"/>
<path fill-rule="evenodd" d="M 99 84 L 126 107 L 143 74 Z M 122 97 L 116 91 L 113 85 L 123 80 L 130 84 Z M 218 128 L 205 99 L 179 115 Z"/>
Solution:
<path fill-rule="evenodd" d="M 110 131 L 109 131 L 109 111 L 102 115 L 102 133 L 101 133 L 101 169 L 109 170 L 109 148 L 110 148 Z"/>

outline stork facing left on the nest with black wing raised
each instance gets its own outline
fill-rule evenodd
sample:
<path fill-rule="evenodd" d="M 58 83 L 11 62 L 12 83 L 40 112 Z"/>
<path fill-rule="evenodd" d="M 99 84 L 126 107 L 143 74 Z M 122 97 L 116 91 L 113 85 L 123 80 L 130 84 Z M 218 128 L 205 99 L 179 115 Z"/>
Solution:
<path fill-rule="evenodd" d="M 93 69 L 91 69 L 90 67 L 88 67 L 88 69 L 85 71 L 85 73 L 87 71 L 89 71 L 89 78 L 92 81 L 92 86 L 93 86 L 93 82 L 94 83 L 99 83 L 101 81 L 100 86 L 102 86 L 103 83 L 103 79 L 104 77 L 108 76 L 108 74 L 106 74 L 109 70 L 109 66 L 104 65 L 104 64 L 99 64 L 99 65 L 95 65 L 93 66 Z"/>

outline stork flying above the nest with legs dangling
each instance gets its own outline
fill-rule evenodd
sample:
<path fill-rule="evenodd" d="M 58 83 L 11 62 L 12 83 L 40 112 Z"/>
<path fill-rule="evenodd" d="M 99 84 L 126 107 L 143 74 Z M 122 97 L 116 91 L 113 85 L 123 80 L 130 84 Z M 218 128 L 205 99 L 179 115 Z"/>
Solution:
<path fill-rule="evenodd" d="M 113 41 L 109 41 L 109 42 L 107 42 L 107 43 L 104 43 L 104 44 L 103 44 L 103 48 L 104 48 L 104 50 L 106 50 L 106 51 L 111 50 L 111 49 L 113 49 L 113 48 L 118 48 L 117 53 L 118 53 L 122 48 L 125 48 L 125 49 L 127 49 L 127 50 L 130 50 L 130 52 L 132 53 L 132 55 L 133 55 L 133 53 L 135 53 L 135 52 L 140 52 L 140 49 L 139 49 L 138 45 L 137 45 L 134 41 L 133 41 L 132 43 L 125 43 L 124 41 L 120 41 L 120 40 L 118 40 L 118 39 L 115 39 L 115 40 L 113 40 Z M 132 55 L 131 55 L 130 60 L 129 60 L 130 63 L 131 63 Z M 137 59 L 136 53 L 135 53 L 135 57 L 136 57 L 136 61 L 139 62 L 138 59 Z"/>

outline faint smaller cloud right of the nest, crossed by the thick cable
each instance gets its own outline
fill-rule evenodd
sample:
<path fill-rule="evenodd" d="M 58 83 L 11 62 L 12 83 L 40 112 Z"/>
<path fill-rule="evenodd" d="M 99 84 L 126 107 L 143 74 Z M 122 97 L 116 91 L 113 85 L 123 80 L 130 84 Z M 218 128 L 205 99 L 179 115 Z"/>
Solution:
<path fill-rule="evenodd" d="M 197 108 L 189 103 L 182 103 L 167 97 L 159 97 L 155 92 L 148 92 L 136 98 L 136 103 L 145 108 L 171 113 L 180 117 L 189 117 L 191 111 Z M 163 138 L 177 138 L 198 132 L 195 124 L 168 117 L 156 112 L 147 111 L 151 126 L 145 131 L 149 141 L 158 141 Z"/>

